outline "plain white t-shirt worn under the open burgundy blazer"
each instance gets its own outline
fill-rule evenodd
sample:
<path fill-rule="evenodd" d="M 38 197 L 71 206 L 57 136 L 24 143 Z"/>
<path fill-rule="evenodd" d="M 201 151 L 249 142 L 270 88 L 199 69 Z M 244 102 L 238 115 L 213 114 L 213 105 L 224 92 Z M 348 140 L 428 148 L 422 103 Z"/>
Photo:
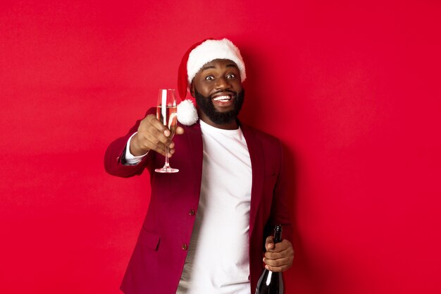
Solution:
<path fill-rule="evenodd" d="M 201 123 L 201 197 L 177 294 L 249 294 L 251 161 L 242 130 Z"/>

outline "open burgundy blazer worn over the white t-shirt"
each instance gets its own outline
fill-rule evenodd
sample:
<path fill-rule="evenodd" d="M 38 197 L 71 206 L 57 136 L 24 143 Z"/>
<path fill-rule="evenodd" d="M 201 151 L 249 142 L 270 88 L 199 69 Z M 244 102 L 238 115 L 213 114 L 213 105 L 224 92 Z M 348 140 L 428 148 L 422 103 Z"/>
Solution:
<path fill-rule="evenodd" d="M 147 112 L 151 114 L 152 110 Z M 202 176 L 202 136 L 198 123 L 181 125 L 183 135 L 176 135 L 175 154 L 170 165 L 178 173 L 155 173 L 164 157 L 149 152 L 135 166 L 123 165 L 125 145 L 137 131 L 139 121 L 124 137 L 113 141 L 104 159 L 106 171 L 114 176 L 130 177 L 150 173 L 151 198 L 147 216 L 125 272 L 121 290 L 126 294 L 175 294 L 180 281 L 187 245 L 199 204 Z M 252 187 L 249 214 L 249 267 L 251 292 L 263 271 L 264 243 L 272 228 L 282 223 L 283 238 L 292 242 L 292 226 L 285 192 L 282 147 L 275 137 L 240 124 L 251 158 Z M 234 183 L 232 183 L 234 185 Z M 229 212 L 225 212 L 228 217 Z M 213 228 L 216 229 L 216 228 Z M 216 266 L 216 264 L 213 264 Z"/>

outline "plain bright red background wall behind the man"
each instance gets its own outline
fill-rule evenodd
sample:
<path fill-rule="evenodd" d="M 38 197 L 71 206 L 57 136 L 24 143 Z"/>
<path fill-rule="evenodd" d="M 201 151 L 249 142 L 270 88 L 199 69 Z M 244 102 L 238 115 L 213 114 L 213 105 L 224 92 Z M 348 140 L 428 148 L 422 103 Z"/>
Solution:
<path fill-rule="evenodd" d="M 0 293 L 119 293 L 149 202 L 104 150 L 229 37 L 290 150 L 287 293 L 441 293 L 440 1 L 2 1 Z"/>

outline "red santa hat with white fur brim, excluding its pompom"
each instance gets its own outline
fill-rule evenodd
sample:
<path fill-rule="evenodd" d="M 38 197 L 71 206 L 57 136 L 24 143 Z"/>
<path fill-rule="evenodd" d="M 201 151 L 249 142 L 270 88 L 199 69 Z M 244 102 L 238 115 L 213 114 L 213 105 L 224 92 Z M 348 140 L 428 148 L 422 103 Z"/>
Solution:
<path fill-rule="evenodd" d="M 185 52 L 178 70 L 178 92 L 181 99 L 187 96 L 194 75 L 214 59 L 230 59 L 239 68 L 242 82 L 247 78 L 245 65 L 239 49 L 229 39 L 204 39 Z"/>

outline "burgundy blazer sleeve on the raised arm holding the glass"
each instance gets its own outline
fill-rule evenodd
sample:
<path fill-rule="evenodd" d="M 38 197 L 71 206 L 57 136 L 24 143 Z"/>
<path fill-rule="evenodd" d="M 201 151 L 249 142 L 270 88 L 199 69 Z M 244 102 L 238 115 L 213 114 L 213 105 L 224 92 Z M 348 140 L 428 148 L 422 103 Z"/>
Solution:
<path fill-rule="evenodd" d="M 156 109 L 153 107 L 147 111 L 145 116 L 155 113 Z M 151 162 L 151 154 L 153 152 L 149 152 L 149 154 L 147 154 L 147 156 L 144 157 L 138 164 L 125 164 L 125 147 L 130 136 L 137 131 L 139 123 L 141 123 L 141 120 L 138 120 L 125 136 L 114 140 L 107 147 L 106 154 L 104 155 L 104 169 L 106 169 L 106 172 L 112 176 L 128 178 L 130 176 L 140 175 L 146 166 L 149 166 L 149 163 Z"/>

